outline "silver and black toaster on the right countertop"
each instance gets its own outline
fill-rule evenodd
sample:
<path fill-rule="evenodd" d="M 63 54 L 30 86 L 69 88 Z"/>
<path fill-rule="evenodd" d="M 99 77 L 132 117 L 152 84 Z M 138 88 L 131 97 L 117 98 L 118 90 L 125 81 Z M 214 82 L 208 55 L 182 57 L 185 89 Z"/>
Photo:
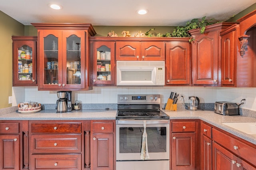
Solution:
<path fill-rule="evenodd" d="M 220 115 L 239 115 L 238 105 L 228 101 L 216 101 L 214 112 Z"/>

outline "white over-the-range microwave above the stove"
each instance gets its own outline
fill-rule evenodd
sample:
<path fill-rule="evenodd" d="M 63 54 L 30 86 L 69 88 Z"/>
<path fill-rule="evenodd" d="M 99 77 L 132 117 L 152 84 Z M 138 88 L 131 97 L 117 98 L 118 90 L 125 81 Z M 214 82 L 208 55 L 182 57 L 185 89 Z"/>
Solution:
<path fill-rule="evenodd" d="M 164 61 L 116 61 L 116 85 L 164 87 Z"/>

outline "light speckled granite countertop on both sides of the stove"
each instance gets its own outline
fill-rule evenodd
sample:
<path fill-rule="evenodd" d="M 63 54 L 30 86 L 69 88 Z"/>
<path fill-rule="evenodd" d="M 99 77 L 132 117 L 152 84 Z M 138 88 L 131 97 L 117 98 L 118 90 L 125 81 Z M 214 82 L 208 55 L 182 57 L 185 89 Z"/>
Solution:
<path fill-rule="evenodd" d="M 2 109 L 1 109 L 2 110 Z M 256 122 L 256 118 L 246 116 L 223 116 L 214 111 L 188 111 L 178 109 L 177 111 L 162 110 L 169 115 L 170 119 L 200 119 L 222 130 L 230 132 L 248 142 L 256 144 L 256 136 L 244 133 L 222 123 L 233 122 Z M 116 109 L 88 109 L 81 111 L 71 111 L 66 113 L 56 113 L 56 110 L 42 110 L 35 113 L 18 113 L 12 111 L 0 111 L 0 120 L 115 120 Z"/>

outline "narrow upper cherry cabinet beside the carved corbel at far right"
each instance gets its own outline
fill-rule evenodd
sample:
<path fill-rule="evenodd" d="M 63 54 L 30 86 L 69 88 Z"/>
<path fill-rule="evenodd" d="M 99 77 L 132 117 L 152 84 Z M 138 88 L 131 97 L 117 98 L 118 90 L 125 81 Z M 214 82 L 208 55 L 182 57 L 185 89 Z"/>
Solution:
<path fill-rule="evenodd" d="M 236 59 L 238 54 L 239 24 L 220 32 L 221 36 L 221 85 L 236 87 Z"/>

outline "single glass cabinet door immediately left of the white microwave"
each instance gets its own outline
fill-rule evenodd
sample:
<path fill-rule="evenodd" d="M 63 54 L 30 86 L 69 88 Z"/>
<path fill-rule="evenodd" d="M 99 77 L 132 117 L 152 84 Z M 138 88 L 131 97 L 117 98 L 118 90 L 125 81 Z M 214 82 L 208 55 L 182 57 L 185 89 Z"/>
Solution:
<path fill-rule="evenodd" d="M 94 42 L 94 84 L 114 85 L 114 42 Z"/>

